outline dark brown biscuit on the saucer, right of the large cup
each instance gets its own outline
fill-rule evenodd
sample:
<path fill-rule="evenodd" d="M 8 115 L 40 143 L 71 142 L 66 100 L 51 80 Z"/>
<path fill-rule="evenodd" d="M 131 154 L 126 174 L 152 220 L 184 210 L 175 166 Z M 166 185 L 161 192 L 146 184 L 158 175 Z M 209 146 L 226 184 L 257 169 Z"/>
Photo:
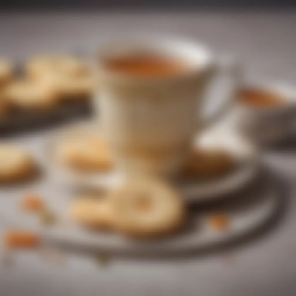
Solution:
<path fill-rule="evenodd" d="M 185 168 L 185 173 L 199 179 L 210 179 L 229 172 L 235 160 L 229 152 L 218 149 L 196 149 Z"/>

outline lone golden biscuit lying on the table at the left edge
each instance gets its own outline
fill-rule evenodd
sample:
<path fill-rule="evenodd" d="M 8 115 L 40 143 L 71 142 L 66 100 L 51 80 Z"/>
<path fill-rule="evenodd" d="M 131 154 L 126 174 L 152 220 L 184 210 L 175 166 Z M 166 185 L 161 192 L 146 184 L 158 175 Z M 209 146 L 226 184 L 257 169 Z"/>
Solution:
<path fill-rule="evenodd" d="M 25 181 L 36 173 L 31 156 L 22 148 L 0 145 L 0 183 Z"/>

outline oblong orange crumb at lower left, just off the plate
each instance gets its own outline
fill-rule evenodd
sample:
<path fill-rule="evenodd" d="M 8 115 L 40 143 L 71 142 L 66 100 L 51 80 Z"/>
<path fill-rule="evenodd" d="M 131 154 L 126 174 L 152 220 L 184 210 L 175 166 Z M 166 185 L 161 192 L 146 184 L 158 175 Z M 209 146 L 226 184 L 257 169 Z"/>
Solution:
<path fill-rule="evenodd" d="M 39 238 L 37 234 L 28 231 L 9 231 L 4 235 L 4 244 L 10 248 L 35 248 Z"/>

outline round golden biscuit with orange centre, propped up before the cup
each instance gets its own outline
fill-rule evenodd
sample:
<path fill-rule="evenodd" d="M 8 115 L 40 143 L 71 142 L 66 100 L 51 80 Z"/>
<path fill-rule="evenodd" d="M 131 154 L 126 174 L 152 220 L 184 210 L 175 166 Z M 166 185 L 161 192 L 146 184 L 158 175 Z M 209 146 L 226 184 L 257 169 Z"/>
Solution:
<path fill-rule="evenodd" d="M 135 238 L 161 237 L 177 231 L 185 207 L 177 192 L 159 181 L 137 180 L 110 197 L 115 230 Z"/>

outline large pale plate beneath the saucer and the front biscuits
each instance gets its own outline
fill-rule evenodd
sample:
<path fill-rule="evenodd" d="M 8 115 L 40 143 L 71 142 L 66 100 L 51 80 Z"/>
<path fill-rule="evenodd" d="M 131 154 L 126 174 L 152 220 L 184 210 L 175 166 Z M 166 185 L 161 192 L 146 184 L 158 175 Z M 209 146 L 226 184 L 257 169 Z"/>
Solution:
<path fill-rule="evenodd" d="M 283 201 L 278 183 L 266 172 L 261 177 L 237 198 L 196 207 L 191 212 L 188 228 L 166 239 L 135 241 L 116 233 L 86 230 L 71 221 L 65 223 L 64 227 L 46 228 L 41 234 L 46 241 L 64 247 L 132 256 L 176 255 L 209 250 L 255 234 L 278 213 Z M 209 217 L 213 213 L 227 215 L 229 228 L 226 231 L 215 231 L 209 227 Z"/>

